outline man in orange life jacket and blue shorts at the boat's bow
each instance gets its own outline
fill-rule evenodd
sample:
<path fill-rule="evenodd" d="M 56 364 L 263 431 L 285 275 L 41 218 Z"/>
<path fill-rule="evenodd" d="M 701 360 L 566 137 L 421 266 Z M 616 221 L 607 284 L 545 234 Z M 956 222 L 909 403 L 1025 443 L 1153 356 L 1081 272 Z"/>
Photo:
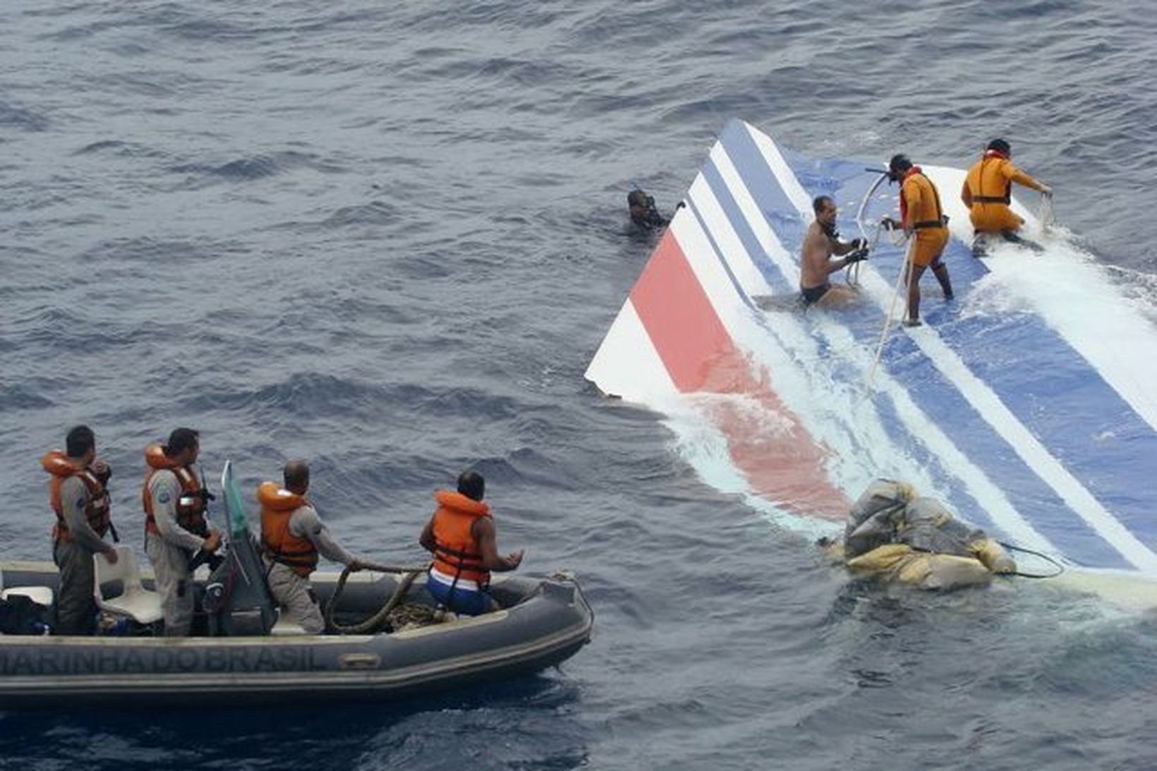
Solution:
<path fill-rule="evenodd" d="M 418 542 L 434 553 L 426 588 L 450 610 L 477 616 L 496 610 L 489 593 L 489 571 L 513 571 L 522 550 L 499 556 L 491 507 L 482 502 L 486 480 L 477 471 L 458 477 L 458 492 L 434 493 L 437 509 Z"/>

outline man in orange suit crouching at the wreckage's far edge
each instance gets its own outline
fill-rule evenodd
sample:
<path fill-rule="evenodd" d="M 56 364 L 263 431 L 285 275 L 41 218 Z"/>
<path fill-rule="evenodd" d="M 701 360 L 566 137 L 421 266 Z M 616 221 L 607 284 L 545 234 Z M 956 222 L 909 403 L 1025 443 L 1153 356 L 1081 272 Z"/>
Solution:
<path fill-rule="evenodd" d="M 1011 146 L 1003 139 L 994 139 L 988 142 L 985 154 L 968 169 L 968 176 L 964 179 L 960 200 L 968 207 L 968 219 L 977 232 L 974 251 L 983 251 L 985 236 L 989 234 L 1041 249 L 1039 244 L 1017 234 L 1024 219 L 1009 208 L 1012 203 L 1012 183 L 1039 190 L 1046 198 L 1052 197 L 1053 189 L 1012 166 L 1011 157 Z"/>

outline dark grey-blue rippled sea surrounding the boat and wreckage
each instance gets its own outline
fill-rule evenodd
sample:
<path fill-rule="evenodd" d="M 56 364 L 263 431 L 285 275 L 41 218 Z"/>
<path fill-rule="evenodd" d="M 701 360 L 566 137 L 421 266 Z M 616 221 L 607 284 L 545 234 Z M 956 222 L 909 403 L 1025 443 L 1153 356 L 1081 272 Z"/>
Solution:
<path fill-rule="evenodd" d="M 731 117 L 946 166 L 1003 135 L 1157 307 L 1155 12 L 5 0 L 0 558 L 49 557 L 76 423 L 141 549 L 141 450 L 192 426 L 246 489 L 309 458 L 382 561 L 477 468 L 597 619 L 557 670 L 405 704 L 0 713 L 0 768 L 1157 768 L 1151 611 L 852 582 L 582 376 L 653 247 L 626 192 L 670 210 Z"/>

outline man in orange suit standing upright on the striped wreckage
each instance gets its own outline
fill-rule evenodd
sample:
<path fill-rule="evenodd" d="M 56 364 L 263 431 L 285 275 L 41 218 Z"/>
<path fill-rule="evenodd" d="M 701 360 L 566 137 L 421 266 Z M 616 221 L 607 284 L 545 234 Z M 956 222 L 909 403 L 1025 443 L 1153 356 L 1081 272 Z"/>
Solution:
<path fill-rule="evenodd" d="M 920 277 L 926 267 L 933 269 L 933 276 L 944 291 L 944 299 L 951 300 L 953 296 L 948 266 L 941 262 L 941 255 L 948 245 L 948 218 L 941 208 L 936 185 L 924 176 L 919 166 L 912 166 L 907 155 L 893 155 L 887 171 L 890 179 L 900 183 L 900 221 L 885 216 L 884 225 L 902 227 L 905 235 L 913 240 L 908 245 L 908 262 L 905 265 L 908 317 L 904 320 L 904 324 L 920 326 Z"/>

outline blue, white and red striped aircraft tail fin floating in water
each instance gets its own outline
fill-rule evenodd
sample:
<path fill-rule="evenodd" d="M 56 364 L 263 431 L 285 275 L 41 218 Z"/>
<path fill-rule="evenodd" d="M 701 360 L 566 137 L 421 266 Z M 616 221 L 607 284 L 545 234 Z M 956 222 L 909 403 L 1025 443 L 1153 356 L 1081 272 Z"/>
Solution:
<path fill-rule="evenodd" d="M 706 482 L 804 535 L 835 535 L 847 491 L 885 476 L 994 537 L 1157 587 L 1151 309 L 1016 200 L 1044 250 L 973 256 L 965 172 L 890 149 L 923 166 L 951 218 L 955 300 L 926 278 L 923 326 L 899 324 L 906 251 L 880 236 L 898 216 L 898 189 L 867 168 L 880 162 L 806 157 L 732 120 L 587 379 L 662 413 Z M 805 311 L 819 194 L 874 249 L 847 277 L 858 302 Z"/>

